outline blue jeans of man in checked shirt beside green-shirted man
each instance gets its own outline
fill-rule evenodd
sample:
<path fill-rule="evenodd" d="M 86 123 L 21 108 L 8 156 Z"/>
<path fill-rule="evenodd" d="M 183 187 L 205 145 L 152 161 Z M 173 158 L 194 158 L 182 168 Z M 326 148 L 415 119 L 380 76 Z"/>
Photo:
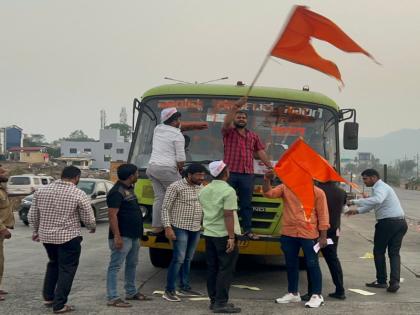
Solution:
<path fill-rule="evenodd" d="M 173 241 L 172 261 L 168 268 L 166 290 L 175 291 L 175 282 L 179 275 L 179 287 L 190 290 L 190 267 L 195 249 L 200 241 L 200 231 L 193 232 L 172 227 L 176 240 Z"/>

